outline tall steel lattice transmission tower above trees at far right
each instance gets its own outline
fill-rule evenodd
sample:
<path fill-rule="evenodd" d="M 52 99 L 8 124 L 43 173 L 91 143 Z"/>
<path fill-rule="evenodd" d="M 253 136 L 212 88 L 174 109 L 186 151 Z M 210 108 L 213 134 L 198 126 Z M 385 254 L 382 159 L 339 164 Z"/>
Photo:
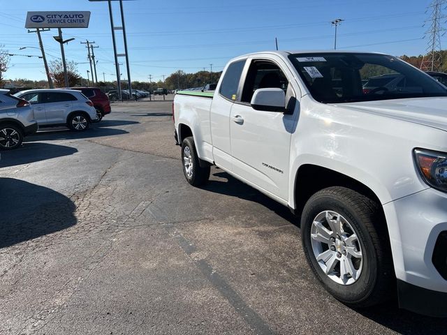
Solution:
<path fill-rule="evenodd" d="M 420 70 L 424 71 L 437 71 L 441 69 L 442 55 L 441 55 L 441 36 L 446 34 L 446 29 L 441 27 L 444 23 L 443 19 L 447 17 L 442 13 L 447 1 L 446 0 L 434 0 L 427 7 L 425 13 L 428 10 L 432 10 L 430 19 L 425 20 L 424 26 L 427 22 L 430 23 L 430 28 L 425 31 L 425 37 L 427 37 L 427 54 L 423 57 L 423 61 L 420 64 Z M 441 34 L 442 33 L 442 34 Z"/>

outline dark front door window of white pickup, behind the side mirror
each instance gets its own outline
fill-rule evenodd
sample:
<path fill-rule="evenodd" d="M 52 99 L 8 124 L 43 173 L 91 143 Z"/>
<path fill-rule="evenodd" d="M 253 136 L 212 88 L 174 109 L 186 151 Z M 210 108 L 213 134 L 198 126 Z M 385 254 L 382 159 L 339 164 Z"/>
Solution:
<path fill-rule="evenodd" d="M 250 103 L 256 89 L 277 88 L 287 92 L 288 80 L 277 64 L 272 61 L 255 60 L 251 63 L 241 101 Z"/>

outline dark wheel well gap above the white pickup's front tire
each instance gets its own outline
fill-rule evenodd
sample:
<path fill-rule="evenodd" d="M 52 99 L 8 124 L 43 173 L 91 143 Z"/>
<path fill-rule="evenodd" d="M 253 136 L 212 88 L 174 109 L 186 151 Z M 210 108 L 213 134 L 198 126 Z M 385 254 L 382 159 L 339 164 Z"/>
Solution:
<path fill-rule="evenodd" d="M 295 213 L 300 215 L 307 200 L 314 193 L 330 186 L 351 188 L 353 191 L 365 195 L 378 204 L 381 204 L 374 191 L 365 184 L 360 183 L 360 181 L 328 168 L 306 164 L 300 166 L 295 179 Z M 384 214 L 383 217 L 385 217 Z"/>

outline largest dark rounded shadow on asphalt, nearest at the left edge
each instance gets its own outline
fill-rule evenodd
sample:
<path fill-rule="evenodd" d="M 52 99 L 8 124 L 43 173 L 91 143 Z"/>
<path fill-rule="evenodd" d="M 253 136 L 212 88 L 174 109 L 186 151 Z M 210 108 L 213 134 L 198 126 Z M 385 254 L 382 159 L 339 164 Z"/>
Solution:
<path fill-rule="evenodd" d="M 19 179 L 0 178 L 0 248 L 76 224 L 65 195 Z"/>

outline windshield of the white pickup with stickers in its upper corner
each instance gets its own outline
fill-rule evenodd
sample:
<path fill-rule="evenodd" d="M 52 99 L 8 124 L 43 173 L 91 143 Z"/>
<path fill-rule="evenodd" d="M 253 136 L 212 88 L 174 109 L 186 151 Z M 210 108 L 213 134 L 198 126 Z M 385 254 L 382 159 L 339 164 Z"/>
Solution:
<path fill-rule="evenodd" d="M 321 103 L 447 96 L 447 89 L 430 76 L 385 54 L 291 54 L 289 58 Z"/>

